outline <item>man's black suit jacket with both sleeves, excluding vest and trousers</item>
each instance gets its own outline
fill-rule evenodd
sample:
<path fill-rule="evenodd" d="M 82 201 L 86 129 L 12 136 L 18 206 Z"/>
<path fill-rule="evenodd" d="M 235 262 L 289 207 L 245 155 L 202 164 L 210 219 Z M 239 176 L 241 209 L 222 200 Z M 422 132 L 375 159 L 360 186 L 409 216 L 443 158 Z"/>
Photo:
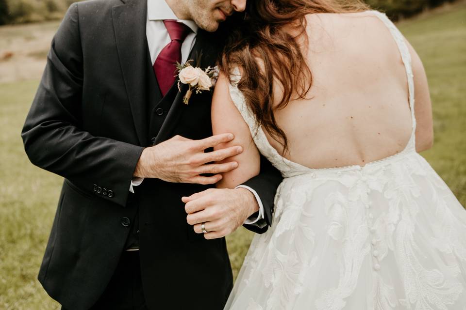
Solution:
<path fill-rule="evenodd" d="M 212 135 L 212 94 L 195 94 L 184 105 L 186 87 L 174 87 L 173 97 L 160 98 L 172 102 L 163 119 L 153 121 L 160 126 L 151 137 L 146 14 L 146 0 L 73 4 L 52 41 L 22 131 L 32 163 L 65 178 L 39 280 L 68 309 L 88 309 L 104 291 L 138 208 L 149 309 L 222 309 L 232 287 L 225 240 L 205 240 L 186 223 L 181 197 L 208 186 L 146 179 L 136 194 L 129 192 L 152 138 Z M 201 66 L 215 65 L 219 42 L 216 33 L 200 31 L 190 58 L 202 50 Z M 246 183 L 261 197 L 268 224 L 281 181 L 263 161 L 261 174 Z"/>

